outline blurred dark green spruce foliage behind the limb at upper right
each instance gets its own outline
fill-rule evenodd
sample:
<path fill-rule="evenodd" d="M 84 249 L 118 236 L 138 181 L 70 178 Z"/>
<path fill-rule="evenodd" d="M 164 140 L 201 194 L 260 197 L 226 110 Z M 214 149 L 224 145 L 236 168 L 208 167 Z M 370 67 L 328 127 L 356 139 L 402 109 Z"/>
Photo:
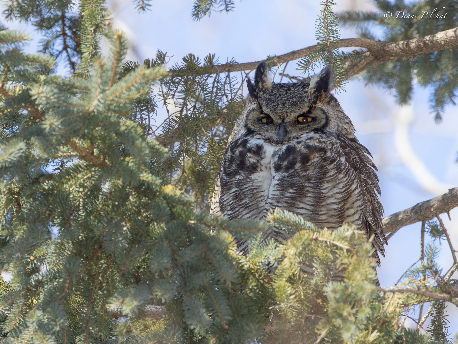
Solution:
<path fill-rule="evenodd" d="M 344 25 L 358 28 L 361 37 L 382 39 L 387 42 L 413 39 L 458 26 L 457 1 L 406 2 L 397 0 L 389 2 L 375 0 L 374 4 L 378 9 L 377 12 L 343 12 L 338 14 L 339 20 Z M 434 15 L 447 13 L 447 16 L 426 17 L 431 16 L 434 9 L 436 9 Z M 384 17 L 386 12 L 390 12 L 391 17 Z M 418 17 L 407 19 L 406 16 L 409 15 Z M 380 27 L 383 28 L 382 35 L 377 37 L 375 32 L 380 32 L 380 30 L 376 28 Z M 440 121 L 445 106 L 447 104 L 455 105 L 458 88 L 457 54 L 458 47 L 455 46 L 409 60 L 399 58 L 372 67 L 365 72 L 364 78 L 368 83 L 381 84 L 393 90 L 400 104 L 409 103 L 412 99 L 414 80 L 423 87 L 431 88 L 431 109 L 435 113 L 436 121 Z"/>

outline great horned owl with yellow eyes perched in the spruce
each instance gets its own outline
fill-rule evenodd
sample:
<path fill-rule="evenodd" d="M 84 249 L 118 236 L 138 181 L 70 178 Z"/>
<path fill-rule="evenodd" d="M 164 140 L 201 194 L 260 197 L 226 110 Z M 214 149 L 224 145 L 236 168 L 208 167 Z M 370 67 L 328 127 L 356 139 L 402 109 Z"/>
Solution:
<path fill-rule="evenodd" d="M 229 137 L 211 213 L 260 219 L 278 207 L 318 227 L 352 223 L 375 236 L 378 261 L 387 240 L 376 166 L 330 93 L 333 70 L 323 68 L 310 83 L 273 83 L 268 74 L 262 62 L 254 82 L 247 80 L 249 96 Z"/>

